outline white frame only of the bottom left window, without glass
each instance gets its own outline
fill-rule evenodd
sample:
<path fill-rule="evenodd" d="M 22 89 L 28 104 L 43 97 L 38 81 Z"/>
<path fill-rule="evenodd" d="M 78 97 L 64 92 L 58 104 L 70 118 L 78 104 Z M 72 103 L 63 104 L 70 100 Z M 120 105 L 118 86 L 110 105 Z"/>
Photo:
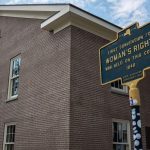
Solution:
<path fill-rule="evenodd" d="M 5 125 L 4 125 L 3 150 L 5 150 L 5 146 L 6 145 L 10 145 L 10 144 L 15 145 L 15 137 L 14 137 L 14 142 L 6 142 L 6 136 L 7 136 L 7 128 L 8 128 L 8 126 L 15 126 L 15 133 L 14 133 L 14 135 L 16 136 L 16 123 L 15 122 L 5 123 Z"/>

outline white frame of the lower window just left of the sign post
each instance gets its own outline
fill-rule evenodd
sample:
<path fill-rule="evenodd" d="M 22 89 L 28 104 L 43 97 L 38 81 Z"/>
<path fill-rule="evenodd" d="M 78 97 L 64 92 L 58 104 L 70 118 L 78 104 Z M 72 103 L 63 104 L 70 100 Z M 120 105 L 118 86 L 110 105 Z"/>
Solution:
<path fill-rule="evenodd" d="M 112 140 L 112 144 L 128 144 L 129 145 L 129 150 L 131 150 L 131 131 L 130 131 L 130 122 L 129 120 L 122 120 L 122 119 L 112 119 L 112 126 L 113 126 L 113 122 L 118 122 L 118 123 L 126 123 L 127 124 L 127 143 L 119 143 L 119 142 L 113 142 Z M 112 134 L 113 134 L 113 129 L 112 129 Z"/>

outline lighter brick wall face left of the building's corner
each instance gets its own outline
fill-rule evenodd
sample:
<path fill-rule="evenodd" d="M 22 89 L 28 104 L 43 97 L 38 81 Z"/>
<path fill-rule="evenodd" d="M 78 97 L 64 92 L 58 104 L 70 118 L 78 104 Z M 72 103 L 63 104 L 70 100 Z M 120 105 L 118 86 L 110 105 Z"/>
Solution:
<path fill-rule="evenodd" d="M 69 148 L 70 40 L 41 20 L 0 17 L 0 150 L 4 123 L 16 122 L 15 150 Z M 21 53 L 19 97 L 6 103 L 10 59 Z"/>

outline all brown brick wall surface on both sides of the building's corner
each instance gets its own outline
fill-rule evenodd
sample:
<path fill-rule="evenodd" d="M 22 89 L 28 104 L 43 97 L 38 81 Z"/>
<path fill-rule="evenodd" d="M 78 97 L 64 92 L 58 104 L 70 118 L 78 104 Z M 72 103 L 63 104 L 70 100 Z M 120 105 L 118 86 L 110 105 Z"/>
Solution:
<path fill-rule="evenodd" d="M 40 23 L 0 17 L 0 150 L 8 122 L 16 122 L 15 150 L 112 150 L 112 118 L 130 120 L 130 108 L 128 96 L 100 85 L 98 49 L 108 41 L 74 26 L 49 33 Z M 19 97 L 6 103 L 10 59 L 18 54 Z M 139 85 L 144 150 L 149 76 Z"/>

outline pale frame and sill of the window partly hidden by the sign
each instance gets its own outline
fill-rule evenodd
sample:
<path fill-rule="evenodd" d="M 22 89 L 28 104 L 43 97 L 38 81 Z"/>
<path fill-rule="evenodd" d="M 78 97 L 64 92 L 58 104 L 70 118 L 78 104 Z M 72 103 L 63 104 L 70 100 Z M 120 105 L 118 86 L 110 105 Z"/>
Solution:
<path fill-rule="evenodd" d="M 112 82 L 112 83 L 115 83 L 115 82 L 119 82 L 119 80 L 114 81 L 114 82 Z M 111 83 L 111 84 L 112 84 L 112 83 Z M 118 83 L 118 84 L 119 84 L 119 83 Z M 129 94 L 128 87 L 125 86 L 125 85 L 122 85 L 122 87 L 123 87 L 123 88 L 121 89 L 121 88 L 117 88 L 117 87 L 114 87 L 114 86 L 111 85 L 111 91 L 112 91 L 112 92 L 115 92 L 115 93 L 120 93 L 120 94 L 128 95 L 128 94 Z"/>

